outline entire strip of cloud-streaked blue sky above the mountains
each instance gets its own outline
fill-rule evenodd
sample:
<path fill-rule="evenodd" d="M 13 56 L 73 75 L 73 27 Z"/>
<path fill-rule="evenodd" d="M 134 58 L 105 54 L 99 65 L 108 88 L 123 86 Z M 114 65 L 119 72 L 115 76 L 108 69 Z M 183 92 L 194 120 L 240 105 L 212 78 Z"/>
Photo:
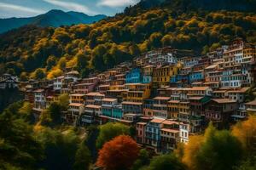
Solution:
<path fill-rule="evenodd" d="M 0 0 L 0 18 L 29 17 L 50 9 L 113 15 L 139 0 Z"/>

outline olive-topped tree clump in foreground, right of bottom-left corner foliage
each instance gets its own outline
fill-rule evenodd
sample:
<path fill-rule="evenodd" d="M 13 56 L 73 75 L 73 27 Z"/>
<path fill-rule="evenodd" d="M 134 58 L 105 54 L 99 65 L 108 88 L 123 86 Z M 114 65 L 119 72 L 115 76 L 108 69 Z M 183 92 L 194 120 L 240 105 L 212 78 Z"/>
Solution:
<path fill-rule="evenodd" d="M 44 159 L 38 166 L 44 169 L 73 169 L 74 162 L 83 159 L 77 155 L 79 137 L 72 129 L 59 132 L 49 127 L 36 132 L 38 141 L 44 146 Z M 84 153 L 85 154 L 85 153 Z"/>

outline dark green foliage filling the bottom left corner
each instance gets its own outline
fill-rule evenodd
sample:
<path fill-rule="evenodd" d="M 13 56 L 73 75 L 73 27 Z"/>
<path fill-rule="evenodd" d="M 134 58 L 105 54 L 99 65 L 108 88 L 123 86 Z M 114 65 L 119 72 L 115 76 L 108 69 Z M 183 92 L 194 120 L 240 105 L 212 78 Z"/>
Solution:
<path fill-rule="evenodd" d="M 15 108 L 16 111 L 18 109 Z M 15 110 L 9 107 L 0 115 L 1 166 L 7 169 L 35 169 L 37 162 L 43 158 L 43 147 L 34 138 L 32 126 L 15 118 Z"/>

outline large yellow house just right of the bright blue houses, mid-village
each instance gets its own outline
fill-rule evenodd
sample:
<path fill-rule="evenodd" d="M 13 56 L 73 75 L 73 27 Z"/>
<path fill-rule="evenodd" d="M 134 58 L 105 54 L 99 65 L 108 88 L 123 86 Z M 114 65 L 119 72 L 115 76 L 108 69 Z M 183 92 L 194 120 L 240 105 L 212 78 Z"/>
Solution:
<path fill-rule="evenodd" d="M 165 65 L 154 68 L 153 71 L 153 83 L 154 88 L 167 86 L 170 83 L 171 77 L 177 75 L 177 72 L 181 69 L 182 65 Z"/>

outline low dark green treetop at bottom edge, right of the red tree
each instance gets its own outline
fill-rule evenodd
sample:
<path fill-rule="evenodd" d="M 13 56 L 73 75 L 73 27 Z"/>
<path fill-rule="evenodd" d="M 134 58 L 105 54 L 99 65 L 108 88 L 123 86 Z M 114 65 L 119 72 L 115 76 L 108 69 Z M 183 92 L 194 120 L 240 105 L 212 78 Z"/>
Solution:
<path fill-rule="evenodd" d="M 154 156 L 147 170 L 185 170 L 185 165 L 174 154 Z"/>

